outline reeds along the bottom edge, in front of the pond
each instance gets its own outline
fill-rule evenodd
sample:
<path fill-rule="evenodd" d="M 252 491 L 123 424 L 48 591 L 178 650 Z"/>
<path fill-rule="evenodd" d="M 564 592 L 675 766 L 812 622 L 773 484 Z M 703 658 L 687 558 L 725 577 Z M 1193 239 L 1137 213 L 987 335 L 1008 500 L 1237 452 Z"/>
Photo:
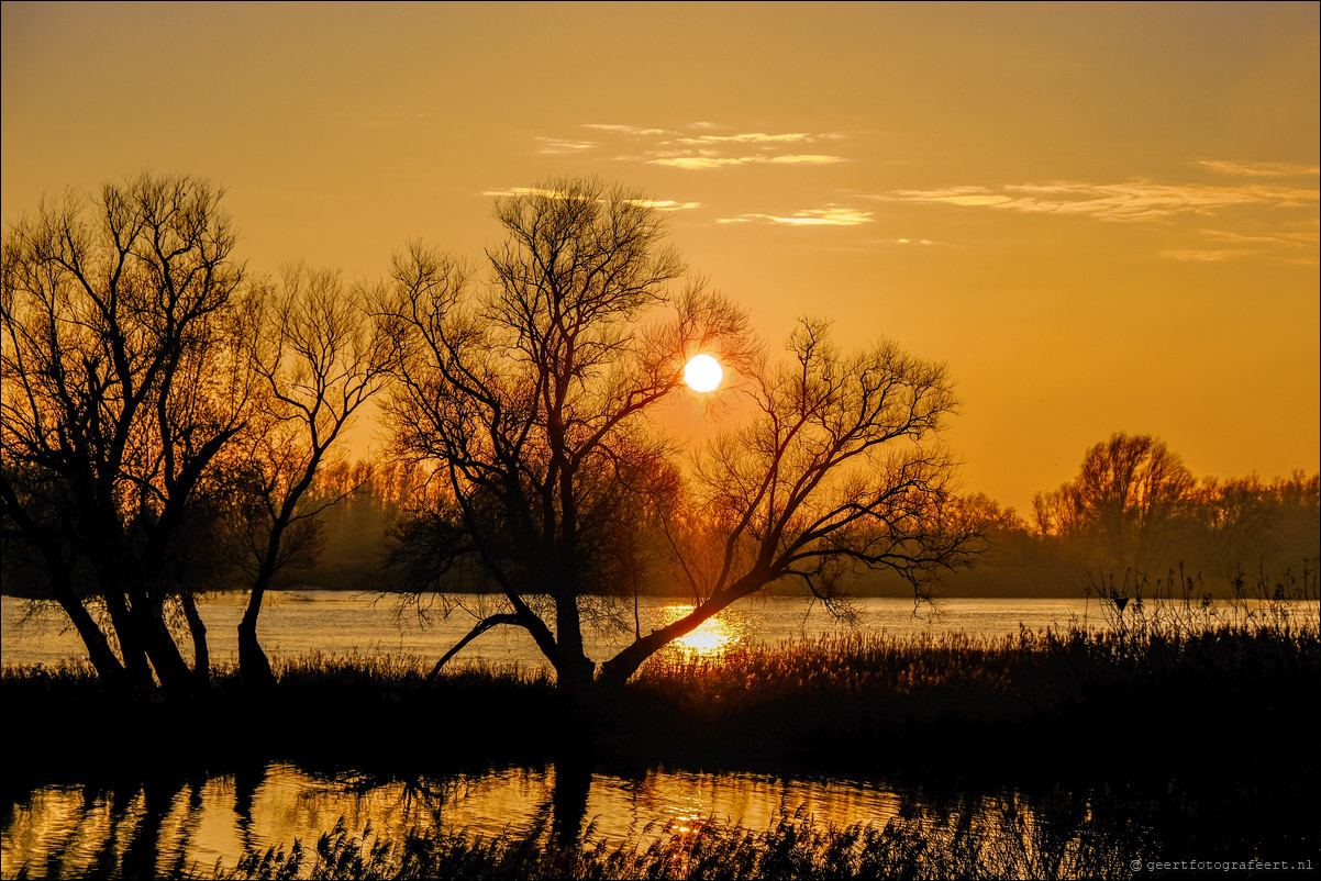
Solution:
<path fill-rule="evenodd" d="M 704 820 L 671 822 L 637 839 L 588 831 L 556 843 L 544 828 L 481 837 L 443 827 L 399 839 L 343 824 L 312 847 L 295 841 L 244 857 L 218 878 L 1116 878 L 1132 877 L 1143 841 L 1083 820 L 1046 829 L 1016 798 L 975 814 L 898 816 L 884 827 L 836 828 L 802 810 L 765 831 Z"/>

